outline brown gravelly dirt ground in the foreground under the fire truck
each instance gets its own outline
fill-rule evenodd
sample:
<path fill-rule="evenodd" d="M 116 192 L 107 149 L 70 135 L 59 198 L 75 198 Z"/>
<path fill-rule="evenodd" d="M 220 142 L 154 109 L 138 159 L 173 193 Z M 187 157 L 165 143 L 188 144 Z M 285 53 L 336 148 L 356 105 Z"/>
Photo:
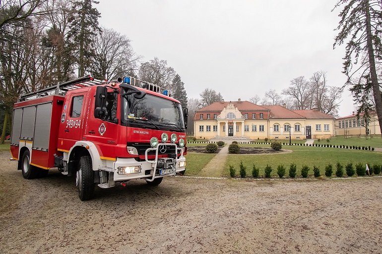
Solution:
<path fill-rule="evenodd" d="M 143 180 L 81 202 L 0 152 L 0 253 L 382 253 L 382 177 Z"/>

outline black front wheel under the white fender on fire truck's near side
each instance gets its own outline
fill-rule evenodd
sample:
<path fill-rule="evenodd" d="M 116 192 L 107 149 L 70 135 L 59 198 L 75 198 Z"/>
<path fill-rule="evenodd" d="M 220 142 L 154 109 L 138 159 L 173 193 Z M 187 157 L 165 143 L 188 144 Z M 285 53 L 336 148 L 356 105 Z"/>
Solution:
<path fill-rule="evenodd" d="M 95 184 L 90 156 L 82 156 L 79 159 L 78 169 L 75 174 L 75 185 L 78 188 L 78 197 L 81 201 L 89 200 L 93 197 Z"/>

